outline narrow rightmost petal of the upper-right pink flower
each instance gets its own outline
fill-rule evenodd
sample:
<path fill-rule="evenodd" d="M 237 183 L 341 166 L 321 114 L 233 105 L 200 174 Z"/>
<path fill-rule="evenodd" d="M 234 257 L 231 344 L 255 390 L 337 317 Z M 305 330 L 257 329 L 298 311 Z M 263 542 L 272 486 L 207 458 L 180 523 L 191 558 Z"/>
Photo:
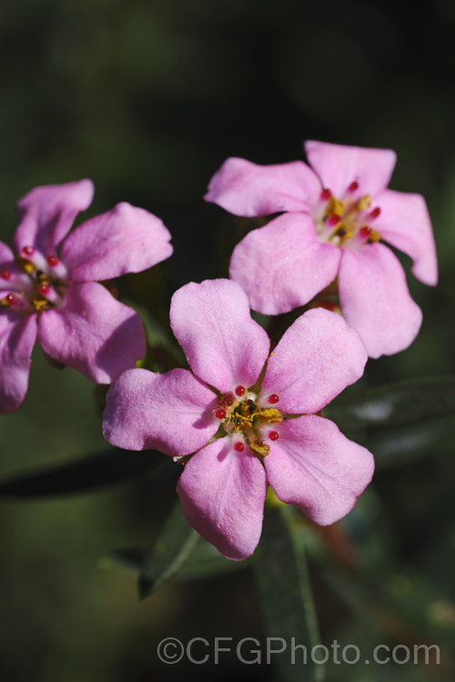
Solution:
<path fill-rule="evenodd" d="M 425 199 L 390 189 L 375 197 L 380 216 L 374 227 L 389 244 L 414 261 L 412 272 L 427 285 L 438 282 L 436 246 Z"/>

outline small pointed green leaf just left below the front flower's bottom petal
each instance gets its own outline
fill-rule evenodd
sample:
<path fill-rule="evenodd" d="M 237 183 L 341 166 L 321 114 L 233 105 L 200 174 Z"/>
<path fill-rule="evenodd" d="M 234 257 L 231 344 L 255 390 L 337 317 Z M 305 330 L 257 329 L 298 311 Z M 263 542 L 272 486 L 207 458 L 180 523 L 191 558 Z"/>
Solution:
<path fill-rule="evenodd" d="M 197 543 L 197 532 L 183 516 L 180 500 L 171 511 L 157 541 L 149 548 L 137 581 L 141 599 L 177 573 Z"/>

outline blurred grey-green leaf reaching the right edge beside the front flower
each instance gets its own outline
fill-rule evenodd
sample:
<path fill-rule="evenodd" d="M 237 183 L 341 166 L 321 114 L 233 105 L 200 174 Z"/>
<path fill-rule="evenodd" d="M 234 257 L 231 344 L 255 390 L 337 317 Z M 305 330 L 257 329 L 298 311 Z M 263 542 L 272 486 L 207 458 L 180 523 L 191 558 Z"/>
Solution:
<path fill-rule="evenodd" d="M 430 376 L 371 388 L 361 396 L 341 397 L 324 416 L 340 429 L 378 431 L 455 414 L 455 376 Z"/>

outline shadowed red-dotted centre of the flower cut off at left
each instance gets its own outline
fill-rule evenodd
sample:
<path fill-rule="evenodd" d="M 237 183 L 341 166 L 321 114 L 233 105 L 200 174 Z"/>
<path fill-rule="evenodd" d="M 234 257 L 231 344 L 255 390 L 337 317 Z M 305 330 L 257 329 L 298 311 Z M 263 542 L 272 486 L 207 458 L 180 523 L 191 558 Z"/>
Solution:
<path fill-rule="evenodd" d="M 11 270 L 0 270 L 0 306 L 42 313 L 63 303 L 66 266 L 57 256 L 45 257 L 34 246 L 24 246 Z"/>

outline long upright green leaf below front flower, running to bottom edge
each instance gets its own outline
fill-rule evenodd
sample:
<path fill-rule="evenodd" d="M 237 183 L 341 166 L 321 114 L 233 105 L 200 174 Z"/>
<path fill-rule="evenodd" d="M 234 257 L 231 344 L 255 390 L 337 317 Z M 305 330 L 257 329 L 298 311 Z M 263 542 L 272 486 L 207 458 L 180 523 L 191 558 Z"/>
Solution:
<path fill-rule="evenodd" d="M 311 657 L 319 644 L 316 611 L 309 584 L 308 567 L 295 510 L 290 506 L 267 508 L 259 547 L 254 555 L 258 595 L 271 647 L 281 653 L 270 660 L 282 682 L 319 682 L 324 667 Z M 270 640 L 268 640 L 270 641 Z M 303 645 L 307 662 L 302 665 L 302 647 L 292 657 L 292 646 Z M 317 657 L 317 654 L 314 655 Z"/>

